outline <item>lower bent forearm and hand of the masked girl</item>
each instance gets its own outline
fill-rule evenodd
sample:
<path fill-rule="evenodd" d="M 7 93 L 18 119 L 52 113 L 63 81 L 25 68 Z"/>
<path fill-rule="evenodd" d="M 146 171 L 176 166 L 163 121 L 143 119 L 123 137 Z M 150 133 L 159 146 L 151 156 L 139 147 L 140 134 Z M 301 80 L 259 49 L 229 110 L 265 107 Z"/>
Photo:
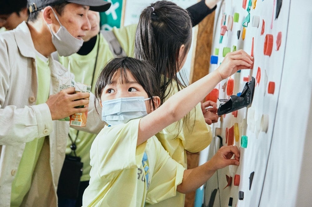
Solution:
<path fill-rule="evenodd" d="M 233 154 L 234 159 L 231 159 Z M 177 186 L 180 193 L 189 193 L 202 186 L 218 169 L 239 165 L 239 150 L 236 146 L 223 146 L 206 163 L 184 171 L 183 181 Z"/>

